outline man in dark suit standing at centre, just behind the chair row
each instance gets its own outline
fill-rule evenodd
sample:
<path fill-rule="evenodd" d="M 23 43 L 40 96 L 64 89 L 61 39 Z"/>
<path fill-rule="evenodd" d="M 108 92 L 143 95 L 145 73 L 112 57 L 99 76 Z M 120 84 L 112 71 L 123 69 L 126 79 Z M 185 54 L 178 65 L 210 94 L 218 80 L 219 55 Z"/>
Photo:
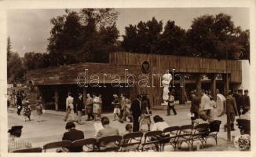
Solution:
<path fill-rule="evenodd" d="M 130 106 L 131 114 L 133 115 L 133 132 L 140 130 L 139 117 L 141 116 L 141 96 L 138 95 L 137 99 L 133 100 Z"/>

